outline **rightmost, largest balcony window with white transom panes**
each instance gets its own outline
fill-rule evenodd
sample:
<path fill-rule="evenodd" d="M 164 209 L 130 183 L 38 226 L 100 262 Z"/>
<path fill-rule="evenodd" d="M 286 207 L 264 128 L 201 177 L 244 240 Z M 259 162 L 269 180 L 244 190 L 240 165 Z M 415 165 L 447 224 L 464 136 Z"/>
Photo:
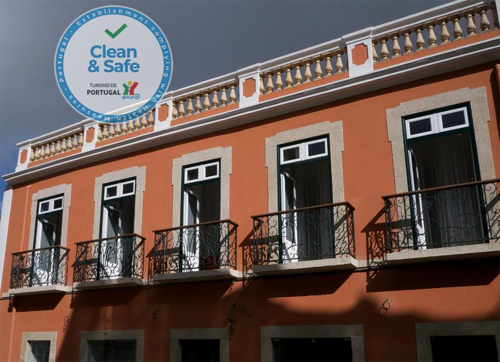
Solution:
<path fill-rule="evenodd" d="M 410 190 L 479 180 L 472 124 L 466 106 L 403 120 Z M 475 188 L 419 192 L 412 198 L 414 246 L 420 249 L 482 242 L 482 210 Z M 456 205 L 460 205 L 457 207 Z"/>

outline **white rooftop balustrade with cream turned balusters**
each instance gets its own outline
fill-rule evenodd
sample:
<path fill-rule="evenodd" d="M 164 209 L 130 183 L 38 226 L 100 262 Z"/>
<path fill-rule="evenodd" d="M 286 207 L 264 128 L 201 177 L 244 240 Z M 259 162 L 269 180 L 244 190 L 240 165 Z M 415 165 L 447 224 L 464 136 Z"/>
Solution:
<path fill-rule="evenodd" d="M 237 72 L 167 92 L 155 109 L 133 120 L 104 124 L 87 119 L 34 140 L 21 142 L 18 144 L 19 161 L 16 170 L 25 168 L 28 162 L 70 150 L 80 148 L 85 151 L 95 147 L 99 141 L 122 134 L 145 128 L 153 128 L 154 131 L 164 129 L 171 125 L 171 120 L 212 109 L 219 109 L 223 112 L 225 107 L 227 107 L 225 109 L 234 108 L 229 107 L 230 105 L 247 106 L 259 102 L 259 96 L 301 84 L 314 84 L 314 81 L 320 79 L 329 77 L 332 80 L 341 79 L 335 76 L 345 73 L 346 70 L 349 70 L 349 77 L 375 70 L 376 67 L 374 68 L 369 62 L 368 68 L 365 63 L 358 67 L 356 62 L 352 62 L 350 50 L 347 50 L 353 49 L 353 46 L 357 46 L 356 44 L 364 44 L 369 50 L 371 42 L 371 54 L 368 54 L 368 57 L 372 57 L 373 63 L 378 63 L 458 39 L 473 37 L 492 29 L 498 29 L 498 15 L 494 0 L 449 2 L 258 63 Z M 348 64 L 352 69 L 347 69 Z M 250 91 L 249 93 L 253 94 L 247 96 L 241 90 L 245 88 L 242 86 L 243 82 L 249 77 L 255 80 L 254 83 L 249 83 L 255 85 L 255 91 Z M 240 96 L 244 99 L 239 99 Z M 265 98 L 260 101 L 265 101 Z M 160 113 L 158 109 L 163 104 L 169 107 L 166 115 L 168 121 L 160 124 L 157 121 L 164 119 L 158 119 Z M 164 112 L 162 114 L 164 115 Z M 91 128 L 94 133 L 87 134 Z M 27 155 L 27 160 L 23 154 Z"/>

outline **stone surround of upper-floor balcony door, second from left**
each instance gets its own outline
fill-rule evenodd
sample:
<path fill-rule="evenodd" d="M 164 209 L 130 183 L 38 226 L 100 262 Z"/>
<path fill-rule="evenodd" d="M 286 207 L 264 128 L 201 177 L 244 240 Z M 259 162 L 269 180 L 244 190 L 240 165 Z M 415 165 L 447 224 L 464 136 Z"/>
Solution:
<path fill-rule="evenodd" d="M 102 185 L 125 178 L 135 177 L 135 210 L 133 216 L 133 232 L 140 234 L 142 225 L 142 193 L 145 188 L 146 166 L 133 166 L 103 173 L 95 178 L 94 186 L 94 220 L 92 239 L 99 238 L 100 217 L 102 207 Z"/>

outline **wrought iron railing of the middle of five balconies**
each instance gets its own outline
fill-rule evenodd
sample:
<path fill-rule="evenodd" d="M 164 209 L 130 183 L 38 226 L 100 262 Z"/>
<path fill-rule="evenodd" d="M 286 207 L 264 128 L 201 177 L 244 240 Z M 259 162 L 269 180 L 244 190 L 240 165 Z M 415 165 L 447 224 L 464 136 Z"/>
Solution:
<path fill-rule="evenodd" d="M 237 226 L 226 219 L 155 230 L 153 273 L 236 269 Z"/>

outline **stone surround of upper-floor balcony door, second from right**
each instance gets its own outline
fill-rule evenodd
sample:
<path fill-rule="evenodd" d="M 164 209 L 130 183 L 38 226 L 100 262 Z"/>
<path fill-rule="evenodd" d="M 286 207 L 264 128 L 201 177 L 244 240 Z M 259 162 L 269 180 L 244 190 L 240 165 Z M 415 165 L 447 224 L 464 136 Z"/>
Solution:
<path fill-rule="evenodd" d="M 265 166 L 267 167 L 267 212 L 278 210 L 277 194 L 277 146 L 279 144 L 300 141 L 327 134 L 330 143 L 329 157 L 331 162 L 331 188 L 333 202 L 344 201 L 342 152 L 343 135 L 342 121 L 324 121 L 299 128 L 293 128 L 276 133 L 265 138 Z"/>

